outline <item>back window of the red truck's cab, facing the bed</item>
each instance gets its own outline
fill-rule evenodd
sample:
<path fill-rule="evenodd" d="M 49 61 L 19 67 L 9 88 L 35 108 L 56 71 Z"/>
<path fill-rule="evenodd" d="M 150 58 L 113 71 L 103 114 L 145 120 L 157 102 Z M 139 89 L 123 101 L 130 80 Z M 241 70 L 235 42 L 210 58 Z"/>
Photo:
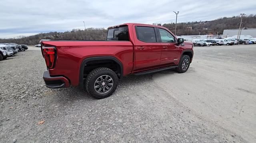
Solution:
<path fill-rule="evenodd" d="M 108 41 L 129 41 L 128 26 L 108 29 Z"/>

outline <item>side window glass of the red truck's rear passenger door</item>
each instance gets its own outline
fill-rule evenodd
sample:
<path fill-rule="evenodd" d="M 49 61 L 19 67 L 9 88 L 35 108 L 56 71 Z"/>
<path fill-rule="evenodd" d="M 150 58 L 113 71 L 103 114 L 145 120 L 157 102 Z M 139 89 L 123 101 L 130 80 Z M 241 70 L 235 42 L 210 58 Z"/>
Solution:
<path fill-rule="evenodd" d="M 136 26 L 136 35 L 140 41 L 156 42 L 156 33 L 154 27 Z"/>

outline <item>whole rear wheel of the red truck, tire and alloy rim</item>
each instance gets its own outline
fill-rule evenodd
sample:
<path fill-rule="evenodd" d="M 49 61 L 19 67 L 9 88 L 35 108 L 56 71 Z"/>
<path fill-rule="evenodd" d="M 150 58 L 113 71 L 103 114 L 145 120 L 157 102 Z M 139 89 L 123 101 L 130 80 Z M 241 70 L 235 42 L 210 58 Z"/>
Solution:
<path fill-rule="evenodd" d="M 85 82 L 87 92 L 94 98 L 106 98 L 110 96 L 117 87 L 118 77 L 114 71 L 106 67 L 92 70 Z"/>

